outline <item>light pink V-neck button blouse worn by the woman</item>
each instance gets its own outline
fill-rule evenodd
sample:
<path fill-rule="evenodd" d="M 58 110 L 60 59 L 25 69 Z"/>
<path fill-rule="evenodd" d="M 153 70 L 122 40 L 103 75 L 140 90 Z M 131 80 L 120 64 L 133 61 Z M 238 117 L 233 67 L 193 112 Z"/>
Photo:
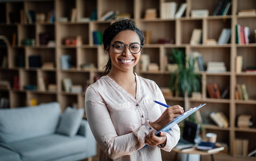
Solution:
<path fill-rule="evenodd" d="M 136 76 L 136 99 L 109 76 L 102 76 L 85 93 L 85 113 L 92 133 L 103 150 L 102 161 L 161 161 L 157 146 L 144 146 L 146 136 L 156 131 L 149 125 L 166 110 L 154 100 L 166 103 L 153 80 Z M 175 125 L 167 132 L 165 151 L 180 139 Z"/>

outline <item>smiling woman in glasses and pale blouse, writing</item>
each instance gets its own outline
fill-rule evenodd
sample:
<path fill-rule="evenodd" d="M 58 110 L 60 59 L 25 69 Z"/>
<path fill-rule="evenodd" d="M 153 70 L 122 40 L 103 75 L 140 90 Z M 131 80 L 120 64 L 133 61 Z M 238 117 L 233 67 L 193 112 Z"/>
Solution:
<path fill-rule="evenodd" d="M 86 116 L 103 151 L 101 161 L 160 161 L 160 148 L 171 151 L 180 139 L 177 125 L 155 136 L 184 110 L 179 105 L 166 108 L 155 103 L 166 103 L 157 84 L 133 72 L 144 41 L 131 20 L 115 22 L 103 33 L 109 56 L 106 76 L 85 93 Z"/>

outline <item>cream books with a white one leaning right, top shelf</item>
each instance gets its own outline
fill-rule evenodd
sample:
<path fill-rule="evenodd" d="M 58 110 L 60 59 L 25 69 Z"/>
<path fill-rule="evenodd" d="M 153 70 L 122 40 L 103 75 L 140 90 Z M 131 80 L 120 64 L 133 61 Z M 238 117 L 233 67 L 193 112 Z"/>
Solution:
<path fill-rule="evenodd" d="M 182 3 L 177 9 L 177 2 L 162 2 L 160 17 L 162 19 L 181 18 L 187 8 L 187 3 Z"/>

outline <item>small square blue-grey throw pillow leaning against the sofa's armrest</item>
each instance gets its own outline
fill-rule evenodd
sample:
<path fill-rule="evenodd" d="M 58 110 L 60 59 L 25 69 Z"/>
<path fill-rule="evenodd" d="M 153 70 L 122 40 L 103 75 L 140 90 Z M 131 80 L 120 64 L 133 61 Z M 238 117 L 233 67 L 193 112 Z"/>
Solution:
<path fill-rule="evenodd" d="M 68 136 L 75 136 L 83 119 L 84 109 L 67 107 L 61 116 L 57 132 Z"/>

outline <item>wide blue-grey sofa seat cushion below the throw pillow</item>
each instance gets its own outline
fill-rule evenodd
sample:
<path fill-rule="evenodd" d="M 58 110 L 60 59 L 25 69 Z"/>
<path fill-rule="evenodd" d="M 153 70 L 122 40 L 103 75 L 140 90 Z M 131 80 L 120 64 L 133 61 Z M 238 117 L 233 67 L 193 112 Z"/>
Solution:
<path fill-rule="evenodd" d="M 18 152 L 22 161 L 49 161 L 56 158 L 87 152 L 87 138 L 62 134 L 52 134 L 27 141 L 5 144 L 7 148 Z"/>

